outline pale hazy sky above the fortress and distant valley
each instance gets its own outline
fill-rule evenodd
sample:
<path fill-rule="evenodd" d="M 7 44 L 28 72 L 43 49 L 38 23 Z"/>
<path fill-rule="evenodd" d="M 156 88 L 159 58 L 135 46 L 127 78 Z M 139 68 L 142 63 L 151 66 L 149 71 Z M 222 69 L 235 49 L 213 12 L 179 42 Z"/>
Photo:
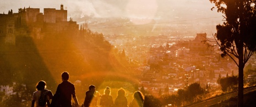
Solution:
<path fill-rule="evenodd" d="M 214 5 L 209 0 L 1 0 L 0 13 L 8 13 L 18 8 L 59 9 L 60 5 L 68 10 L 68 17 L 73 19 L 91 16 L 92 18 L 130 18 L 130 19 L 159 19 L 162 21 L 212 18 L 221 16 L 216 10 L 211 11 Z M 222 18 L 211 19 L 214 23 L 221 22 Z M 216 22 L 215 22 L 216 21 Z"/>

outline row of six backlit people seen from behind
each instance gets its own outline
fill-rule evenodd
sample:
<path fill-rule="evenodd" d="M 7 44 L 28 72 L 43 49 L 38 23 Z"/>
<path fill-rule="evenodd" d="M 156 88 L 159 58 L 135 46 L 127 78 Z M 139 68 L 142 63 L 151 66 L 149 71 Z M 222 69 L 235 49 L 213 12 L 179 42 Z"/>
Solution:
<path fill-rule="evenodd" d="M 32 95 L 31 107 L 96 107 L 97 99 L 99 98 L 99 106 L 101 107 L 143 107 L 144 95 L 140 91 L 133 93 L 133 100 L 128 105 L 126 98 L 126 91 L 123 88 L 118 89 L 115 102 L 111 95 L 110 87 L 106 87 L 104 94 L 101 95 L 96 91 L 94 85 L 90 85 L 88 91 L 85 93 L 84 103 L 78 103 L 75 95 L 75 87 L 73 83 L 69 82 L 68 72 L 62 72 L 62 83 L 57 87 L 56 93 L 46 89 L 46 82 L 39 81 L 36 85 L 37 91 Z M 72 98 L 75 102 L 71 102 Z M 50 100 L 51 103 L 50 103 Z"/>

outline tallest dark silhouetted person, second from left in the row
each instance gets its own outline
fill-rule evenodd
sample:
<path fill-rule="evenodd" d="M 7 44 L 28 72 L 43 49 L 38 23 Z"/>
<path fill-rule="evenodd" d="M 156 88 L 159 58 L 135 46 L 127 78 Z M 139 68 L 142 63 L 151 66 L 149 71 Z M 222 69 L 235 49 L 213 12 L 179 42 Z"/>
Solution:
<path fill-rule="evenodd" d="M 72 102 L 71 99 L 73 97 L 75 101 L 75 105 L 79 106 L 77 97 L 75 96 L 75 86 L 73 83 L 68 81 L 69 74 L 68 72 L 62 72 L 62 83 L 60 83 L 57 87 L 56 94 L 58 94 L 58 100 L 61 107 L 71 107 Z M 58 105 L 59 106 L 59 105 Z"/>

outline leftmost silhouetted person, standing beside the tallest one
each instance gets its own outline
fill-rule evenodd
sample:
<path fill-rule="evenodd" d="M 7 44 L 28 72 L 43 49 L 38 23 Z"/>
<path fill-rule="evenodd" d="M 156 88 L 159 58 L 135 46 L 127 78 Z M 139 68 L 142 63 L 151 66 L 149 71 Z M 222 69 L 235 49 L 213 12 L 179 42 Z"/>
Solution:
<path fill-rule="evenodd" d="M 40 107 L 39 100 L 40 96 L 42 99 L 45 99 L 46 102 L 43 101 L 41 103 L 41 106 L 50 106 L 50 99 L 52 99 L 52 92 L 46 88 L 46 82 L 45 81 L 39 81 L 36 85 L 37 91 L 33 93 L 32 97 L 32 104 L 31 107 Z"/>

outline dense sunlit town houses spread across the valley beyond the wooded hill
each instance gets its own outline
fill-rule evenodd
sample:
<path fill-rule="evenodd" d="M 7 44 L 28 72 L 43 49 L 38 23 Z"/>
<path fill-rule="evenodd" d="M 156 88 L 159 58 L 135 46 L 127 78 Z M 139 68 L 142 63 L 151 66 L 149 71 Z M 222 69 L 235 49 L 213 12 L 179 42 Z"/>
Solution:
<path fill-rule="evenodd" d="M 149 38 L 157 39 L 157 42 L 143 41 Z M 194 82 L 200 83 L 203 87 L 207 83 L 215 85 L 219 74 L 222 77 L 226 77 L 227 74 L 231 76 L 232 72 L 233 75 L 238 74 L 232 60 L 227 57 L 221 58 L 217 48 L 208 50 L 208 44 L 201 42 L 205 38 L 206 33 L 198 33 L 194 40 L 192 38 L 185 42 L 167 36 L 140 37 L 131 43 L 128 42 L 135 46 L 126 48 L 124 45 L 122 49 L 126 50 L 127 58 L 137 60 L 141 64 L 133 74 L 138 75 L 140 85 L 148 92 L 158 92 L 167 85 L 170 92 L 173 92 L 171 90 L 184 88 Z"/>

